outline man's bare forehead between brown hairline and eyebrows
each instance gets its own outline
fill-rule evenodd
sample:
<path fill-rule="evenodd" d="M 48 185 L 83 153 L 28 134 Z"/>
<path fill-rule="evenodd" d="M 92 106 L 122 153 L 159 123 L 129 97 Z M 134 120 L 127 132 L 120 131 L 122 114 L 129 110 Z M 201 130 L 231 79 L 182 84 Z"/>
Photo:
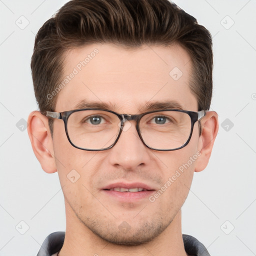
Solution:
<path fill-rule="evenodd" d="M 132 113 L 148 102 L 172 100 L 196 111 L 190 76 L 189 54 L 177 44 L 127 49 L 103 43 L 71 49 L 64 57 L 55 110 L 75 109 L 83 101 Z"/>

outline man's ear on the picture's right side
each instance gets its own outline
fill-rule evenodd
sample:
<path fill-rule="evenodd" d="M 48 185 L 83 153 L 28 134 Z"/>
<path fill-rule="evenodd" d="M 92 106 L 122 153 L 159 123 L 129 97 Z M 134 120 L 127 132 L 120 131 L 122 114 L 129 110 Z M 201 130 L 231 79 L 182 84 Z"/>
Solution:
<path fill-rule="evenodd" d="M 201 152 L 196 160 L 194 171 L 205 169 L 208 164 L 215 137 L 218 132 L 218 115 L 215 111 L 207 111 L 201 119 L 201 135 L 197 150 Z"/>

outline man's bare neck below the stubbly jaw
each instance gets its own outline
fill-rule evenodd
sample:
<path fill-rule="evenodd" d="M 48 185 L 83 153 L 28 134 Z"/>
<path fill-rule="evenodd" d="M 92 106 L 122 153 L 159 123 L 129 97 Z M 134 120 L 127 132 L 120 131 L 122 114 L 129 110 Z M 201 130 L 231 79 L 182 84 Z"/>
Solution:
<path fill-rule="evenodd" d="M 181 211 L 172 222 L 153 240 L 139 245 L 118 245 L 110 243 L 94 234 L 74 214 L 68 203 L 66 209 L 66 232 L 59 256 L 94 255 L 154 255 L 154 256 L 186 256 L 181 234 Z"/>

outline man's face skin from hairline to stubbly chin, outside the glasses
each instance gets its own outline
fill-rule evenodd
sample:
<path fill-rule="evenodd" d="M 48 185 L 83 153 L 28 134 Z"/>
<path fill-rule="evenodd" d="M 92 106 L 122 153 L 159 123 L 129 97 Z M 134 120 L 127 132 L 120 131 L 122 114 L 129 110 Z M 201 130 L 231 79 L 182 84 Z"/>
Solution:
<path fill-rule="evenodd" d="M 87 55 L 86 64 L 80 62 Z M 69 75 L 72 72 L 75 74 Z M 131 50 L 104 43 L 72 49 L 65 56 L 63 80 L 66 75 L 73 77 L 58 92 L 57 112 L 76 109 L 82 100 L 107 104 L 117 113 L 138 114 L 148 102 L 165 101 L 197 111 L 188 86 L 191 61 L 179 45 L 144 45 Z M 55 165 L 67 218 L 80 221 L 104 240 L 140 244 L 169 226 L 187 196 L 198 156 L 198 125 L 194 125 L 190 142 L 174 151 L 147 148 L 135 121 L 125 125 L 112 148 L 85 151 L 69 143 L 63 121 L 54 119 Z M 79 178 L 71 182 L 70 175 L 73 180 Z M 147 191 L 106 190 L 126 186 Z"/>

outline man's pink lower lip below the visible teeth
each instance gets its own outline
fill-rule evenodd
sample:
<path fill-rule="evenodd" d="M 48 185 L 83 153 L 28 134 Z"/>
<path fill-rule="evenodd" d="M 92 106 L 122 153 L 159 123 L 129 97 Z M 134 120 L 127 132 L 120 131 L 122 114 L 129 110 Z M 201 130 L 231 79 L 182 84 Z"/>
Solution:
<path fill-rule="evenodd" d="M 138 201 L 144 198 L 148 198 L 154 190 L 145 190 L 145 191 L 139 191 L 139 192 L 120 192 L 115 190 L 102 190 L 104 193 L 106 193 L 108 196 L 113 196 L 119 201 L 123 202 L 132 202 L 132 201 Z"/>

